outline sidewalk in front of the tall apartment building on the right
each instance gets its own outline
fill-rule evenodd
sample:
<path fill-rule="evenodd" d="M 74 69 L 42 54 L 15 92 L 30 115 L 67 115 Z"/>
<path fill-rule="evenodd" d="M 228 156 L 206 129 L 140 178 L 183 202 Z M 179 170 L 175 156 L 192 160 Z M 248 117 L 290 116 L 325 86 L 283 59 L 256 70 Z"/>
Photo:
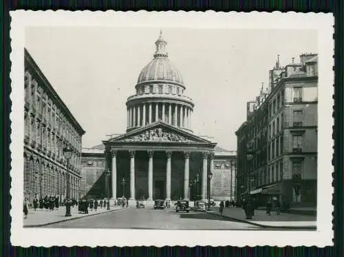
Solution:
<path fill-rule="evenodd" d="M 224 208 L 222 215 L 219 214 L 219 208 L 212 208 L 209 214 L 225 216 L 239 222 L 258 225 L 260 227 L 278 227 L 289 229 L 316 229 L 316 216 L 283 213 L 277 215 L 271 212 L 269 216 L 265 210 L 255 210 L 255 216 L 252 219 L 246 219 L 245 212 L 242 208 Z"/>

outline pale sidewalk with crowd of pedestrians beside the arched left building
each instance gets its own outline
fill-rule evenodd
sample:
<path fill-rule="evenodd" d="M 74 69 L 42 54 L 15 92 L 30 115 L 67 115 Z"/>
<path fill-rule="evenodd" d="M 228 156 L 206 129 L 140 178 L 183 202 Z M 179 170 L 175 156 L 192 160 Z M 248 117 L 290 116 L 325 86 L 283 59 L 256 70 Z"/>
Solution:
<path fill-rule="evenodd" d="M 96 211 L 89 210 L 88 214 L 78 214 L 78 206 L 70 208 L 72 216 L 65 216 L 65 206 L 58 208 L 58 210 L 40 210 L 29 209 L 28 217 L 23 220 L 23 227 L 42 227 L 45 225 L 50 225 L 54 223 L 59 223 L 63 221 L 70 221 L 72 219 L 80 219 L 86 216 L 93 216 L 105 212 L 114 212 L 115 210 L 122 210 L 120 206 L 110 206 L 110 210 L 107 208 L 98 208 Z"/>

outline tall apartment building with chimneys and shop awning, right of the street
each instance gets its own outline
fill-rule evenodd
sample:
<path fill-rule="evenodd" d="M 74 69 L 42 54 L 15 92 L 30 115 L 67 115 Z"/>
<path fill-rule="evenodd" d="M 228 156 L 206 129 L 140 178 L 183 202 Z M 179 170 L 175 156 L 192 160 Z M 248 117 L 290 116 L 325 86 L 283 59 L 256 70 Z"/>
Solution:
<path fill-rule="evenodd" d="M 255 102 L 236 132 L 238 194 L 250 188 L 259 204 L 274 197 L 284 205 L 316 206 L 317 63 L 316 54 L 302 54 L 300 63 L 293 58 L 279 67 L 277 62 L 270 71 L 275 76 L 270 76 L 264 102 Z M 261 123 L 262 134 L 257 131 Z"/>

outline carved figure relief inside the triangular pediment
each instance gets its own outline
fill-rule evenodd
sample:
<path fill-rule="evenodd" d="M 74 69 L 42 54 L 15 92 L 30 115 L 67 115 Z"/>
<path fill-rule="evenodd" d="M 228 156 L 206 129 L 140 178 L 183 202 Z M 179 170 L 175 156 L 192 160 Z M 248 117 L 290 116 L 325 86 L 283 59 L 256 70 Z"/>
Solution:
<path fill-rule="evenodd" d="M 122 139 L 125 142 L 193 142 L 182 135 L 178 135 L 173 132 L 167 132 L 163 129 L 151 129 L 149 131 L 144 131 L 144 133 L 139 135 L 133 135 L 132 137 L 128 137 Z"/>

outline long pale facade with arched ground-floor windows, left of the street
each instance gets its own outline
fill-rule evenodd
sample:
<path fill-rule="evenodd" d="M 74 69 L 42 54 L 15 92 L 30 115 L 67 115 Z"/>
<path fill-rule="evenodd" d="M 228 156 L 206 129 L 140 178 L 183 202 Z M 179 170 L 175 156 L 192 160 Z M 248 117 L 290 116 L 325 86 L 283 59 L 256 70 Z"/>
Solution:
<path fill-rule="evenodd" d="M 39 66 L 25 49 L 24 112 L 24 195 L 78 198 L 81 170 L 81 137 L 85 133 L 58 96 Z M 72 158 L 63 156 L 63 148 L 72 146 Z"/>

